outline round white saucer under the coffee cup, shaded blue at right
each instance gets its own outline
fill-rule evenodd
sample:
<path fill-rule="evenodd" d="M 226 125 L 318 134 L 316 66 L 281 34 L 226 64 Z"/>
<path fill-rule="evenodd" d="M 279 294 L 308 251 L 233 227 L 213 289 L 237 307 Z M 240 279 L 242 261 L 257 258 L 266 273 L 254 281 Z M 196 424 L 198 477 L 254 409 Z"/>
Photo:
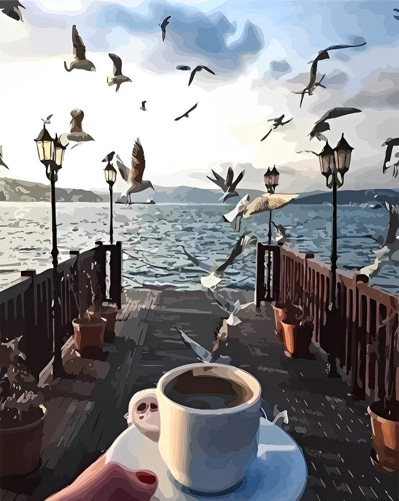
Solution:
<path fill-rule="evenodd" d="M 263 418 L 260 419 L 257 458 L 248 468 L 243 483 L 229 494 L 197 496 L 183 492 L 177 482 L 170 479 L 158 444 L 135 426 L 130 426 L 114 441 L 106 453 L 106 461 L 154 471 L 159 485 L 152 501 L 297 501 L 307 480 L 301 449 L 284 430 Z"/>

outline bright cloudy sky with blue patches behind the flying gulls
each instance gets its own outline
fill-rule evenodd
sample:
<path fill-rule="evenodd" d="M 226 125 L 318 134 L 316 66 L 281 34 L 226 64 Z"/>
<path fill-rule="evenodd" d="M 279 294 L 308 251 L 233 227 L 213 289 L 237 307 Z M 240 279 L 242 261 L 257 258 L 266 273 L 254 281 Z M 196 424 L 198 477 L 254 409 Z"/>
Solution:
<path fill-rule="evenodd" d="M 242 188 L 262 189 L 264 171 L 275 164 L 280 192 L 310 191 L 325 185 L 318 160 L 296 151 L 319 152 L 324 143 L 308 137 L 314 122 L 330 108 L 354 106 L 362 112 L 331 120 L 326 133 L 332 146 L 344 132 L 354 147 L 345 187 L 399 187 L 391 169 L 382 175 L 381 146 L 399 130 L 397 2 L 21 1 L 23 23 L 0 13 L 0 144 L 10 167 L 0 167 L 2 176 L 47 183 L 34 142 L 41 118 L 53 114 L 48 129 L 60 135 L 69 132 L 71 110 L 81 108 L 95 141 L 68 147 L 59 186 L 105 190 L 101 160 L 114 150 L 130 165 L 139 137 L 144 179 L 158 185 L 214 188 L 206 174 L 232 165 L 246 170 Z M 73 24 L 96 72 L 64 69 L 73 60 Z M 363 47 L 330 51 L 319 63 L 326 89 L 306 95 L 299 108 L 293 91 L 307 84 L 317 53 L 363 40 Z M 118 93 L 107 85 L 110 52 L 132 80 Z M 188 87 L 179 64 L 205 64 L 216 76 L 199 72 Z M 188 119 L 174 120 L 196 102 Z M 293 120 L 260 142 L 267 120 L 283 113 Z M 119 179 L 116 189 L 124 187 Z"/>

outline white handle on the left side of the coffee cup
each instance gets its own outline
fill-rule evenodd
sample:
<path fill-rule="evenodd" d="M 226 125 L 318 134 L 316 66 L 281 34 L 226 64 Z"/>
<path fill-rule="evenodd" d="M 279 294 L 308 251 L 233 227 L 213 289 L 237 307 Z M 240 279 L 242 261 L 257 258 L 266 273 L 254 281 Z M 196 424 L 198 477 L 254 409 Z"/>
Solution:
<path fill-rule="evenodd" d="M 161 421 L 155 388 L 135 393 L 130 399 L 129 410 L 125 417 L 128 426 L 134 425 L 144 436 L 158 442 Z"/>

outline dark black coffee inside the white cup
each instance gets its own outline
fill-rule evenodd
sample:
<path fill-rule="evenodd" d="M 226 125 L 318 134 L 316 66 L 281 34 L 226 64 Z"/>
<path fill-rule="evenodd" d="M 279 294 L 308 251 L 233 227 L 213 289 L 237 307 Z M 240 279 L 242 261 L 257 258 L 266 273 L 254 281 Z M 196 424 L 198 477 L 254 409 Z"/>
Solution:
<path fill-rule="evenodd" d="M 166 385 L 164 392 L 173 402 L 192 409 L 236 407 L 253 396 L 246 386 L 221 377 L 208 376 L 206 370 L 195 375 L 192 370 L 179 374 Z"/>

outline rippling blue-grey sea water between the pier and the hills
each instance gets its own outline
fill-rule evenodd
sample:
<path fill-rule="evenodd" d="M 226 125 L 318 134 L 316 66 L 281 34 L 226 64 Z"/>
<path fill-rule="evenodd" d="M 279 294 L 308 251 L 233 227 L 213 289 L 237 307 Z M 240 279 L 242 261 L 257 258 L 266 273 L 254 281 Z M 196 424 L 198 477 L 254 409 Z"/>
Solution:
<path fill-rule="evenodd" d="M 238 198 L 237 198 L 238 201 Z M 230 205 L 134 204 L 114 205 L 114 242 L 122 241 L 123 284 L 201 288 L 201 277 L 221 265 L 244 232 L 267 241 L 269 213 L 242 219 L 240 232 L 224 222 Z M 359 270 L 374 262 L 385 240 L 389 214 L 372 204 L 338 206 L 338 268 Z M 109 241 L 108 203 L 57 203 L 60 259 L 72 249 L 90 248 L 96 240 Z M 285 242 L 329 263 L 331 204 L 291 204 L 276 210 L 272 219 L 286 228 Z M 0 286 L 19 272 L 51 266 L 51 219 L 47 202 L 0 202 Z M 184 248 L 183 248 L 184 247 Z M 194 264 L 184 249 L 196 258 Z M 256 243 L 236 258 L 224 273 L 221 287 L 254 290 Z M 391 293 L 399 292 L 399 261 L 382 262 L 370 282 Z"/>

